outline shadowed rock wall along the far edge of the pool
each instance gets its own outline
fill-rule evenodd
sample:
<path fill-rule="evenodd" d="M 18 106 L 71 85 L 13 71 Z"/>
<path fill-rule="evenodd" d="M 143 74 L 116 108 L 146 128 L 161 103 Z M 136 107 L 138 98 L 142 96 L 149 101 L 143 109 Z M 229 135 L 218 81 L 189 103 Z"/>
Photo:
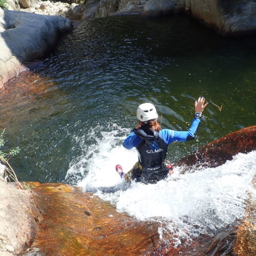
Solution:
<path fill-rule="evenodd" d="M 68 17 L 81 20 L 124 13 L 156 16 L 186 12 L 225 36 L 256 33 L 254 0 L 88 0 L 74 12 Z"/>

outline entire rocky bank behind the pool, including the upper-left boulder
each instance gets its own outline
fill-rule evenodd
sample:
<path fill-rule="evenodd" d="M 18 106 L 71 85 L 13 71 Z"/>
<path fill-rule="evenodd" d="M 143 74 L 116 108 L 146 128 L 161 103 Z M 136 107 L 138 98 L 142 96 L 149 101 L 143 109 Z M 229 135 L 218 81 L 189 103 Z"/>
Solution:
<path fill-rule="evenodd" d="M 256 2 L 235 2 L 87 0 L 79 5 L 70 5 L 49 0 L 8 0 L 7 6 L 10 10 L 0 8 L 0 88 L 9 79 L 28 69 L 25 62 L 44 56 L 54 46 L 58 34 L 71 30 L 71 20 L 119 14 L 157 16 L 185 12 L 226 36 L 255 34 Z M 11 10 L 22 12 L 15 13 Z"/>

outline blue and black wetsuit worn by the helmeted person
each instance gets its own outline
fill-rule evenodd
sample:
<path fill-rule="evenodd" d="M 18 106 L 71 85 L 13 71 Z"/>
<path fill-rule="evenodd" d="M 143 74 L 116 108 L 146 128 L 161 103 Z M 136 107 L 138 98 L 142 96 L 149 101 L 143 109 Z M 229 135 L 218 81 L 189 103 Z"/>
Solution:
<path fill-rule="evenodd" d="M 124 140 L 123 146 L 130 150 L 136 147 L 139 164 L 143 167 L 133 170 L 133 179 L 144 183 L 156 183 L 164 179 L 168 169 L 164 167 L 168 145 L 174 141 L 195 139 L 201 118 L 195 117 L 188 131 L 163 129 L 160 132 L 150 130 L 147 124 L 134 130 Z"/>

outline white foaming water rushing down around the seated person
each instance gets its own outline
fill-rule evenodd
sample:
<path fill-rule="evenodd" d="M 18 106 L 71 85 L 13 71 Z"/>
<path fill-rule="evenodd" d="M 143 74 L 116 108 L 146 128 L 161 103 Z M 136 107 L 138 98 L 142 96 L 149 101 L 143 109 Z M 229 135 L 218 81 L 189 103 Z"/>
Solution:
<path fill-rule="evenodd" d="M 165 223 L 167 231 L 178 233 L 180 238 L 212 234 L 243 218 L 247 193 L 255 195 L 251 181 L 256 151 L 240 153 L 215 168 L 191 169 L 184 175 L 176 167 L 175 174 L 157 184 L 126 183 L 115 165 L 129 170 L 137 161 L 137 153 L 121 145 L 125 136 L 120 137 L 119 132 L 101 133 L 89 154 L 70 167 L 67 177 L 87 173 L 78 186 L 110 201 L 119 212 Z M 163 231 L 161 227 L 159 233 Z"/>

